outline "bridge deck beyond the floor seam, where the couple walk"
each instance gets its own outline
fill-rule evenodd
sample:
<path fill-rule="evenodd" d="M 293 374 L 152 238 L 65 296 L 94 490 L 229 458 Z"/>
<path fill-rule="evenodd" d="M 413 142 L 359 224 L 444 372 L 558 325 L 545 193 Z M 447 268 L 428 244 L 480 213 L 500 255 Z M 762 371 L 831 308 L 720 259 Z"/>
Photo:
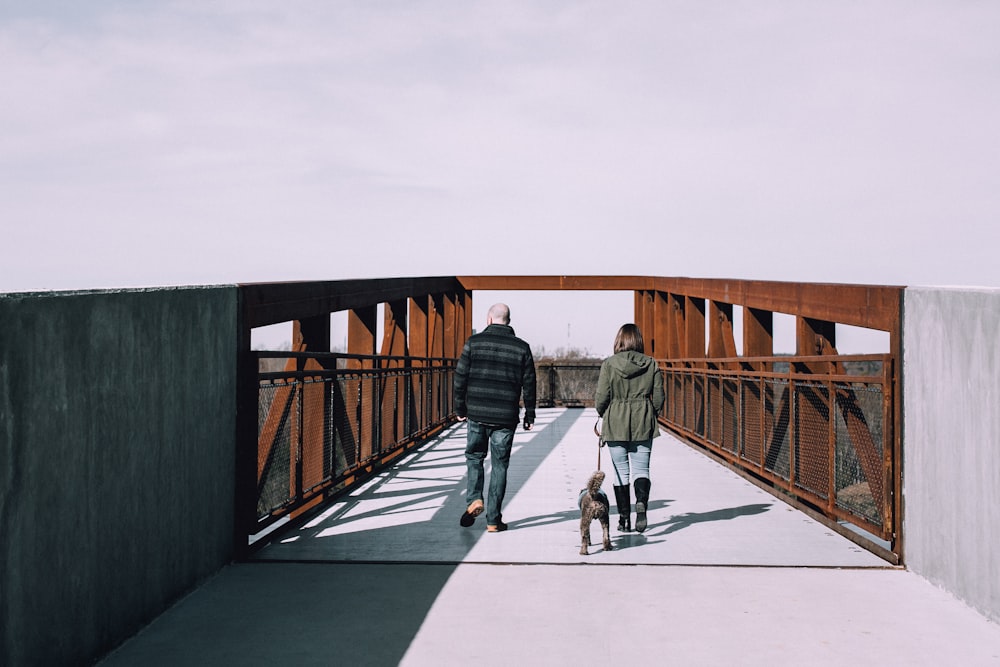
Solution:
<path fill-rule="evenodd" d="M 792 509 L 670 435 L 656 438 L 645 533 L 613 531 L 613 551 L 596 537 L 581 556 L 577 497 L 598 466 L 593 409 L 544 410 L 518 431 L 504 520 L 459 529 L 465 509 L 465 427 L 352 494 L 326 515 L 260 554 L 264 560 L 448 563 L 601 563 L 885 567 L 881 558 Z M 601 450 L 613 499 L 612 466 Z M 634 500 L 634 498 L 633 498 Z M 614 512 L 614 510 L 613 510 Z M 612 517 L 617 524 L 616 516 Z M 591 527 L 597 535 L 599 525 Z"/>

